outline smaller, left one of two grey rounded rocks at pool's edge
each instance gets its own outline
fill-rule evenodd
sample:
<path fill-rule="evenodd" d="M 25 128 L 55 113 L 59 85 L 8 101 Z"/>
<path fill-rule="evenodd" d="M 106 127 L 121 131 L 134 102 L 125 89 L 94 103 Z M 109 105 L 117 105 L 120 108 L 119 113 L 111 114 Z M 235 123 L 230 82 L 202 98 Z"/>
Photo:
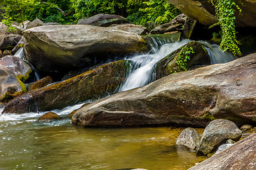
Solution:
<path fill-rule="evenodd" d="M 183 145 L 191 150 L 196 150 L 200 140 L 201 136 L 196 129 L 186 128 L 179 135 L 176 145 Z"/>

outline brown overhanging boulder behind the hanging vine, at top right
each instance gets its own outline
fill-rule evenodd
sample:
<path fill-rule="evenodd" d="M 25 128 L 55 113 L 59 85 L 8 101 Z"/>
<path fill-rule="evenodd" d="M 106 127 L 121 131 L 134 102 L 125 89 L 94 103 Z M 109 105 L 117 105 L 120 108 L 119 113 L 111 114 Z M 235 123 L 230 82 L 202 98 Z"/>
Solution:
<path fill-rule="evenodd" d="M 215 17 L 215 8 L 208 0 L 166 0 L 176 6 L 182 13 L 196 19 L 203 25 L 212 25 L 218 22 Z M 235 23 L 241 27 L 256 27 L 256 4 L 255 0 L 247 0 L 238 2 L 238 6 L 242 9 L 241 15 L 235 13 Z"/>

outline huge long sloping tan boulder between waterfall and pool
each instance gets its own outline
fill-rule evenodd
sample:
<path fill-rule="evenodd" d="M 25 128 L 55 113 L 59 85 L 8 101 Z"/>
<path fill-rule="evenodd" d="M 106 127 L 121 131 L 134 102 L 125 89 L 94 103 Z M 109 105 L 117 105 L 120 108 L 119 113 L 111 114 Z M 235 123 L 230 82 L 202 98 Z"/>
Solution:
<path fill-rule="evenodd" d="M 146 86 L 102 98 L 78 110 L 72 123 L 87 127 L 206 127 L 228 118 L 238 125 L 256 116 L 256 54 L 171 74 Z"/>

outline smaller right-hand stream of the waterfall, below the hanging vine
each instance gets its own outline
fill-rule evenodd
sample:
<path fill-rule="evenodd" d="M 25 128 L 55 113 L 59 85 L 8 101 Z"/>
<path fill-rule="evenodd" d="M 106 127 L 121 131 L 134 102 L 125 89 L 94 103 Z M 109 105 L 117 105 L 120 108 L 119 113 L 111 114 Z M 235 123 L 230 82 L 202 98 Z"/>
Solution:
<path fill-rule="evenodd" d="M 235 57 L 230 52 L 222 52 L 218 45 L 210 44 L 209 42 L 199 41 L 203 47 L 206 48 L 208 55 L 210 56 L 210 64 L 219 64 L 231 62 L 238 57 Z"/>

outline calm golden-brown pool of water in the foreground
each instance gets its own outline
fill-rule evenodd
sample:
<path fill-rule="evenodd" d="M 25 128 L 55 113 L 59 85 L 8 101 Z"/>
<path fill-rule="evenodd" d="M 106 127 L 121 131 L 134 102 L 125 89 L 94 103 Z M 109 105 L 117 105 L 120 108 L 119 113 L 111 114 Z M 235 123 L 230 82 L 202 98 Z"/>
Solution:
<path fill-rule="evenodd" d="M 0 169 L 188 169 L 205 157 L 176 146 L 181 128 L 81 128 L 69 119 L 0 116 Z"/>

